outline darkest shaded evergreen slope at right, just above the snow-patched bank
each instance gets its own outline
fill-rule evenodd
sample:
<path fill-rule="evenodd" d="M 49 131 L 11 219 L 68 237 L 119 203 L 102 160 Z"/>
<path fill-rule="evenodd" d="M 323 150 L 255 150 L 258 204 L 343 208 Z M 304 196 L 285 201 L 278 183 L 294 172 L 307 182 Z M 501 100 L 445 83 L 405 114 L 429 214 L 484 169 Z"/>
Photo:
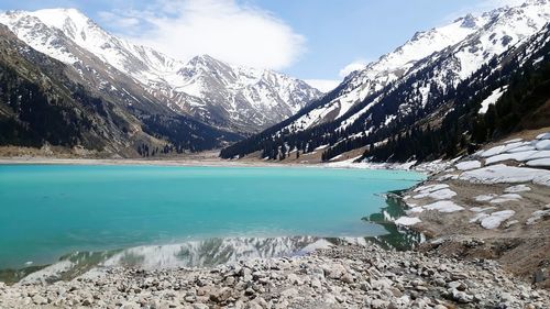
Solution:
<path fill-rule="evenodd" d="M 550 29 L 521 48 L 495 58 L 492 64 L 495 63 L 501 63 L 497 69 L 484 66 L 446 95 L 453 102 L 452 110 L 441 118 L 439 125 L 426 120 L 398 123 L 404 129 L 396 130 L 385 143 L 372 144 L 363 158 L 378 162 L 452 158 L 514 132 L 550 126 Z M 490 93 L 503 88 L 506 90 L 502 97 L 481 113 Z M 430 117 L 441 113 L 440 109 Z"/>

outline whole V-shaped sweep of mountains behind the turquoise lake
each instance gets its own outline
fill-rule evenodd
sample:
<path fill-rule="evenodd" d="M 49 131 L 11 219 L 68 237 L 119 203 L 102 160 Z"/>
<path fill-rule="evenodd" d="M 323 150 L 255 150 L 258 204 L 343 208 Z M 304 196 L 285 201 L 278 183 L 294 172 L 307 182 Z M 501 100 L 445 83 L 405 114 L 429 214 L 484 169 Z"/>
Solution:
<path fill-rule="evenodd" d="M 8 156 L 221 148 L 222 158 L 294 163 L 453 158 L 550 125 L 549 15 L 546 0 L 468 14 L 416 33 L 321 93 L 208 55 L 178 62 L 74 9 L 9 11 L 0 15 L 9 89 L 0 144 Z M 63 121 L 33 118 L 30 100 Z"/>

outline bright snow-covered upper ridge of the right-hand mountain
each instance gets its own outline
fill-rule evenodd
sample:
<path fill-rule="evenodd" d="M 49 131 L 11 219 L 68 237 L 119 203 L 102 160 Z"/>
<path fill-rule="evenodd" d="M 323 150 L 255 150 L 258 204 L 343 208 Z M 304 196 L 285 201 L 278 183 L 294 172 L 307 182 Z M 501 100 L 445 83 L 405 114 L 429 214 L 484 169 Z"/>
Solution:
<path fill-rule="evenodd" d="M 455 86 L 510 46 L 525 42 L 550 21 L 548 0 L 529 0 L 522 5 L 501 8 L 481 15 L 468 14 L 454 22 L 426 32 L 416 33 L 404 45 L 350 74 L 337 88 L 330 101 L 312 104 L 308 113 L 288 125 L 290 130 L 305 130 L 316 124 L 342 119 L 343 124 L 353 122 L 360 114 L 343 117 L 350 109 L 386 86 L 403 80 L 418 71 L 426 63 L 447 58 L 433 87 Z M 430 84 L 417 85 L 426 96 Z M 424 100 L 427 98 L 425 97 Z"/>

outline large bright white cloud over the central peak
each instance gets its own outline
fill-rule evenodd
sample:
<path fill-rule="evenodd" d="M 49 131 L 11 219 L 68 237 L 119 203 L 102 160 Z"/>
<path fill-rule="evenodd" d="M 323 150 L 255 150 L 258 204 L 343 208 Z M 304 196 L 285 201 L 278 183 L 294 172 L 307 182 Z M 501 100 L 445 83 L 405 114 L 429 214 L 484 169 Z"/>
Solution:
<path fill-rule="evenodd" d="M 133 30 L 120 27 L 128 38 L 182 60 L 208 54 L 232 64 L 282 69 L 305 52 L 305 37 L 284 21 L 235 0 L 157 0 L 146 10 L 113 13 L 140 20 Z"/>

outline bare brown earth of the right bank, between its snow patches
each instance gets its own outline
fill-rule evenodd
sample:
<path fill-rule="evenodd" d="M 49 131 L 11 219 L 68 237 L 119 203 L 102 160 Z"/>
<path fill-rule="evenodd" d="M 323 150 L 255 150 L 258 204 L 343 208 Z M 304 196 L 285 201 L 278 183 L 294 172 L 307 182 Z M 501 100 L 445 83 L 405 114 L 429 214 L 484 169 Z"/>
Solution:
<path fill-rule="evenodd" d="M 522 139 L 530 141 L 535 136 L 549 132 L 549 129 L 524 131 L 505 140 Z M 504 141 L 487 145 L 485 150 L 503 144 Z M 466 157 L 460 162 L 480 161 L 480 156 Z M 525 162 L 513 159 L 499 162 L 507 166 L 522 166 Z M 539 167 L 546 169 L 546 167 Z M 537 169 L 532 169 L 537 170 Z M 527 283 L 550 289 L 550 187 L 532 181 L 515 184 L 480 184 L 461 180 L 458 175 L 463 172 L 455 168 L 447 169 L 430 178 L 421 186 L 447 185 L 455 196 L 435 199 L 422 197 L 415 199 L 418 190 L 405 192 L 409 196 L 406 202 L 413 207 L 425 207 L 438 200 L 452 201 L 464 210 L 442 212 L 426 210 L 418 214 L 420 223 L 413 229 L 424 232 L 429 241 L 420 246 L 422 252 L 438 252 L 461 258 L 492 258 L 501 263 L 505 269 L 519 276 Z M 514 192 L 519 197 L 497 202 L 495 198 L 506 192 L 512 186 L 526 186 L 528 190 Z M 480 196 L 493 196 L 492 199 L 480 199 Z M 513 211 L 514 214 L 496 228 L 484 228 L 480 220 L 472 222 L 480 213 Z M 541 213 L 535 220 L 535 213 Z M 409 213 L 409 216 L 411 216 Z"/>

